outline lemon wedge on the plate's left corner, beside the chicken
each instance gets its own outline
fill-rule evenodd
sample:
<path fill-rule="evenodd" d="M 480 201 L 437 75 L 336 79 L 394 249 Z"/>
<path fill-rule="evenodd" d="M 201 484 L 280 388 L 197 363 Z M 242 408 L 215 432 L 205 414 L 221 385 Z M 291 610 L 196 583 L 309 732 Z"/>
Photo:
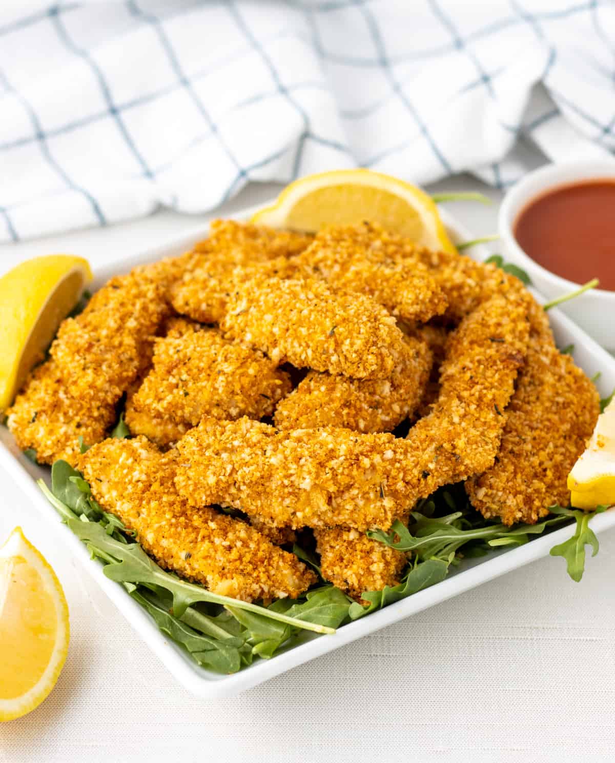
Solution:
<path fill-rule="evenodd" d="M 0 411 L 11 404 L 60 321 L 92 280 L 82 257 L 56 254 L 21 262 L 0 278 Z"/>

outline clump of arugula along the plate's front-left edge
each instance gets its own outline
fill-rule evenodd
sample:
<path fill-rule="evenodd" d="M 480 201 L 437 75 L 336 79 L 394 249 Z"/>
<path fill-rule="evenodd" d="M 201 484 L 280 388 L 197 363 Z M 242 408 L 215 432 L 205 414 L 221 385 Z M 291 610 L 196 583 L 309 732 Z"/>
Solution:
<path fill-rule="evenodd" d="M 214 594 L 166 572 L 143 551 L 118 517 L 101 509 L 83 475 L 65 461 L 51 469 L 51 489 L 38 485 L 105 575 L 124 585 L 161 630 L 199 665 L 233 672 L 254 656 L 270 657 L 302 631 L 335 633 L 348 616 L 349 600 L 333 585 L 308 592 L 303 601 L 270 607 Z M 198 607 L 224 607 L 211 617 Z M 226 612 L 227 617 L 222 617 Z M 233 626 L 230 626 L 232 618 Z"/>

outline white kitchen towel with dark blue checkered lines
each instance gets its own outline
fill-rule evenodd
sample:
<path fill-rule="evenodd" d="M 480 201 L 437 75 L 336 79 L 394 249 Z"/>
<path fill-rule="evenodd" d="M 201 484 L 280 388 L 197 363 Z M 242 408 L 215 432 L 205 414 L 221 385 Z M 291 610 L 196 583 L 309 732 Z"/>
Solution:
<path fill-rule="evenodd" d="M 0 4 L 0 240 L 366 166 L 615 149 L 613 0 Z"/>

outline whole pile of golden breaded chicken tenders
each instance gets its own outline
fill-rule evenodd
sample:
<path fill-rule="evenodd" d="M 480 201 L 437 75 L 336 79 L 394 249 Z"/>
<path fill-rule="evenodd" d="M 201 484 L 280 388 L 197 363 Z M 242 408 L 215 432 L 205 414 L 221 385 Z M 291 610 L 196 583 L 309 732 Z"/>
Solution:
<path fill-rule="evenodd" d="M 114 439 L 122 407 L 132 437 Z M 288 550 L 307 532 L 323 577 L 360 599 L 408 561 L 365 530 L 442 485 L 465 481 L 506 524 L 568 504 L 598 413 L 543 308 L 496 266 L 368 222 L 311 237 L 217 221 L 64 320 L 8 427 L 184 578 L 298 597 L 317 580 Z"/>

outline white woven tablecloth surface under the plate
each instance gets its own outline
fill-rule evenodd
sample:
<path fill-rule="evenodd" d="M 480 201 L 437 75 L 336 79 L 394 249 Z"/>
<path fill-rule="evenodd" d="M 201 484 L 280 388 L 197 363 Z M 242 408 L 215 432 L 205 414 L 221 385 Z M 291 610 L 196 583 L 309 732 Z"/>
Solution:
<path fill-rule="evenodd" d="M 465 178 L 434 190 L 497 192 Z M 219 214 L 276 191 L 246 188 Z M 457 203 L 493 233 L 497 204 Z M 72 252 L 121 260 L 207 217 L 162 212 L 106 230 L 0 246 L 0 272 Z M 615 533 L 579 584 L 544 559 L 256 687 L 199 700 L 167 674 L 0 471 L 0 541 L 15 525 L 69 601 L 69 657 L 33 713 L 0 724 L 0 763 L 357 763 L 615 758 Z M 2 655 L 0 655 L 2 659 Z"/>

